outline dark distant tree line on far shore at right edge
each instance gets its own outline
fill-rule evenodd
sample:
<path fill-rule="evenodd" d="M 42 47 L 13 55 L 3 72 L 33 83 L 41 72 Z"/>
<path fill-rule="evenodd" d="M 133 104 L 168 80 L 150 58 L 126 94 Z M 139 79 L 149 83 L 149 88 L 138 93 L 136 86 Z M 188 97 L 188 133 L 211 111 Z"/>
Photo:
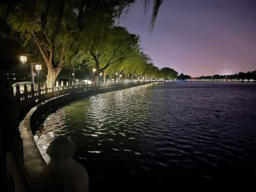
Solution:
<path fill-rule="evenodd" d="M 239 73 L 235 73 L 232 75 L 219 75 L 219 74 L 215 74 L 212 76 L 200 76 L 200 77 L 196 77 L 195 79 L 198 80 L 203 80 L 203 79 L 207 79 L 207 80 L 220 80 L 220 79 L 226 79 L 226 80 L 256 80 L 256 71 L 252 71 L 252 72 L 239 72 Z"/>

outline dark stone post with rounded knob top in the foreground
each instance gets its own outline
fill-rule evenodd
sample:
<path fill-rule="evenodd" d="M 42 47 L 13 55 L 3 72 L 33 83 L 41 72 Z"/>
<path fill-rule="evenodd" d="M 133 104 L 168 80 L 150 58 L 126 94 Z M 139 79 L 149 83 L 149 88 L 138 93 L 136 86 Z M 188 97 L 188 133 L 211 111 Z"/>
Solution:
<path fill-rule="evenodd" d="M 43 170 L 39 192 L 88 192 L 86 169 L 74 161 L 75 145 L 63 136 L 54 139 L 47 148 L 50 163 Z"/>

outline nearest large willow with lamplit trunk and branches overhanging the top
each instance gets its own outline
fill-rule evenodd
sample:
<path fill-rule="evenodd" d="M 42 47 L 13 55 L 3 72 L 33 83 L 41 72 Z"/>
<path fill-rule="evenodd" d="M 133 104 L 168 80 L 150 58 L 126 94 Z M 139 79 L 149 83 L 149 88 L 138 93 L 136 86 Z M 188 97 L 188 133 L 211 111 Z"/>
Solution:
<path fill-rule="evenodd" d="M 150 26 L 155 23 L 161 2 L 154 0 Z M 74 48 L 70 49 L 74 57 L 81 48 L 73 45 L 90 39 L 98 30 L 92 27 L 96 21 L 113 21 L 127 12 L 132 3 L 134 0 L 12 0 L 0 4 L 0 14 L 6 15 L 7 24 L 20 35 L 24 45 L 28 41 L 36 44 L 48 69 L 50 87 L 65 63 L 70 62 L 66 59 L 67 50 Z"/>

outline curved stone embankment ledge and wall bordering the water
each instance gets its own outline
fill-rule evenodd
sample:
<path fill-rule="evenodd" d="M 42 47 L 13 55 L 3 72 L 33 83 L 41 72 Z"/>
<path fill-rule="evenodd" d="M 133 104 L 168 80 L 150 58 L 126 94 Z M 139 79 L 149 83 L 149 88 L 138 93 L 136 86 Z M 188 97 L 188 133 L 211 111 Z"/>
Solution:
<path fill-rule="evenodd" d="M 21 183 L 24 185 L 29 185 L 31 191 L 37 191 L 38 181 L 42 174 L 43 169 L 47 165 L 44 158 L 42 157 L 37 143 L 34 140 L 34 132 L 36 131 L 37 124 L 40 120 L 44 119 L 44 117 L 49 114 L 51 111 L 60 108 L 72 102 L 76 99 L 84 98 L 87 96 L 103 94 L 111 91 L 118 91 L 122 89 L 127 89 L 131 87 L 141 86 L 145 84 L 155 84 L 161 82 L 144 82 L 144 83 L 136 83 L 136 84 L 123 84 L 119 86 L 111 86 L 107 88 L 101 88 L 97 90 L 87 90 L 87 91 L 78 91 L 74 93 L 68 93 L 61 96 L 53 97 L 49 100 L 43 101 L 38 104 L 36 107 L 31 108 L 29 112 L 26 114 L 24 119 L 21 121 L 19 125 L 19 131 L 21 133 L 21 138 L 23 139 L 23 154 L 24 154 L 24 165 L 22 166 L 24 170 L 21 174 L 17 174 L 22 178 L 16 178 L 16 180 L 24 180 L 25 183 Z M 24 176 L 24 177 L 23 177 Z M 15 180 L 15 179 L 14 179 Z"/>

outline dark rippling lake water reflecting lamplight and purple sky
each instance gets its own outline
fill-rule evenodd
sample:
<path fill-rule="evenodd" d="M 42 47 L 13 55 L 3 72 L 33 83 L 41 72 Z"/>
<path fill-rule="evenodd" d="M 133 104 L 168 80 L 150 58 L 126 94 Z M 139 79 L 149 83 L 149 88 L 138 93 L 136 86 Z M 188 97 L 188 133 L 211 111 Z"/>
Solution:
<path fill-rule="evenodd" d="M 46 159 L 59 135 L 76 145 L 90 191 L 249 188 L 256 180 L 256 84 L 149 84 L 86 97 L 39 126 L 35 139 Z"/>

